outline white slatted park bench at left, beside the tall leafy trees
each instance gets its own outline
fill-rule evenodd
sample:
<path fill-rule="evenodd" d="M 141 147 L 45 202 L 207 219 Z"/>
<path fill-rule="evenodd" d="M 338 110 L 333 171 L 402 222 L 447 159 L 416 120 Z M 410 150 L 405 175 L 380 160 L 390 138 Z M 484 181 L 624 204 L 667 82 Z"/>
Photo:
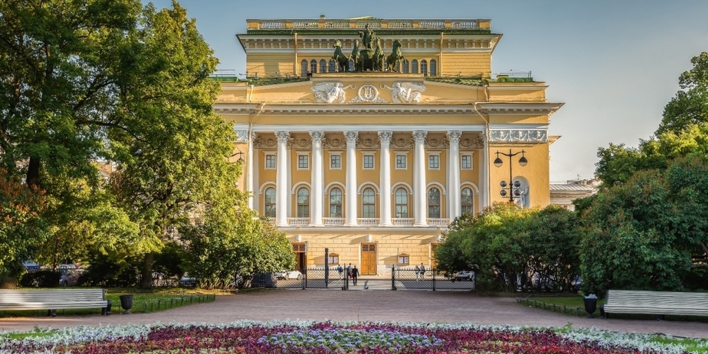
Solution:
<path fill-rule="evenodd" d="M 108 301 L 103 289 L 0 289 L 0 311 L 47 310 L 57 316 L 57 309 L 101 309 L 105 314 Z"/>

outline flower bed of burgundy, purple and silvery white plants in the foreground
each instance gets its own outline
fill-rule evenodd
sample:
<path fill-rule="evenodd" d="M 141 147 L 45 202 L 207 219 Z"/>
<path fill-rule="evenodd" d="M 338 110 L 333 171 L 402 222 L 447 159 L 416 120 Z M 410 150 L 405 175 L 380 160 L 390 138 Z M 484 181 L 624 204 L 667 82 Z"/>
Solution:
<path fill-rule="evenodd" d="M 8 339 L 4 353 L 685 353 L 606 331 L 522 329 L 472 324 L 283 321 L 79 327 Z"/>

